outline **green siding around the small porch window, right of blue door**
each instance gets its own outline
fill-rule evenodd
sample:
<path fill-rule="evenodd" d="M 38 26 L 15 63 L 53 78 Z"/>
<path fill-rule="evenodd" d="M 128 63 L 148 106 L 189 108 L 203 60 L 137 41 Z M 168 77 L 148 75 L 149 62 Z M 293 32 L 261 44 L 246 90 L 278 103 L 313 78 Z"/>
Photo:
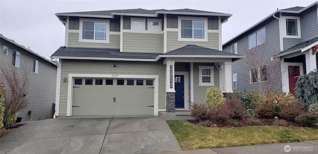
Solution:
<path fill-rule="evenodd" d="M 208 63 L 193 63 L 193 101 L 194 103 L 205 103 L 207 89 L 211 86 L 199 86 L 199 66 L 212 66 Z M 220 71 L 214 70 L 214 87 L 220 88 Z"/>

